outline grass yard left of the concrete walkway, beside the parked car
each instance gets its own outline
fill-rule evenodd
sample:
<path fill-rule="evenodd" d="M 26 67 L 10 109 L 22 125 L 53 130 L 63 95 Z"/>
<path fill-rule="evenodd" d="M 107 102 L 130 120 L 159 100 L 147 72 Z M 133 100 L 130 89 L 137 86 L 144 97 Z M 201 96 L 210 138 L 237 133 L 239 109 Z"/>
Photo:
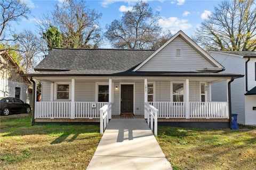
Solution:
<path fill-rule="evenodd" d="M 1 116 L 0 169 L 87 167 L 101 138 L 98 125 L 30 126 L 22 115 Z"/>

